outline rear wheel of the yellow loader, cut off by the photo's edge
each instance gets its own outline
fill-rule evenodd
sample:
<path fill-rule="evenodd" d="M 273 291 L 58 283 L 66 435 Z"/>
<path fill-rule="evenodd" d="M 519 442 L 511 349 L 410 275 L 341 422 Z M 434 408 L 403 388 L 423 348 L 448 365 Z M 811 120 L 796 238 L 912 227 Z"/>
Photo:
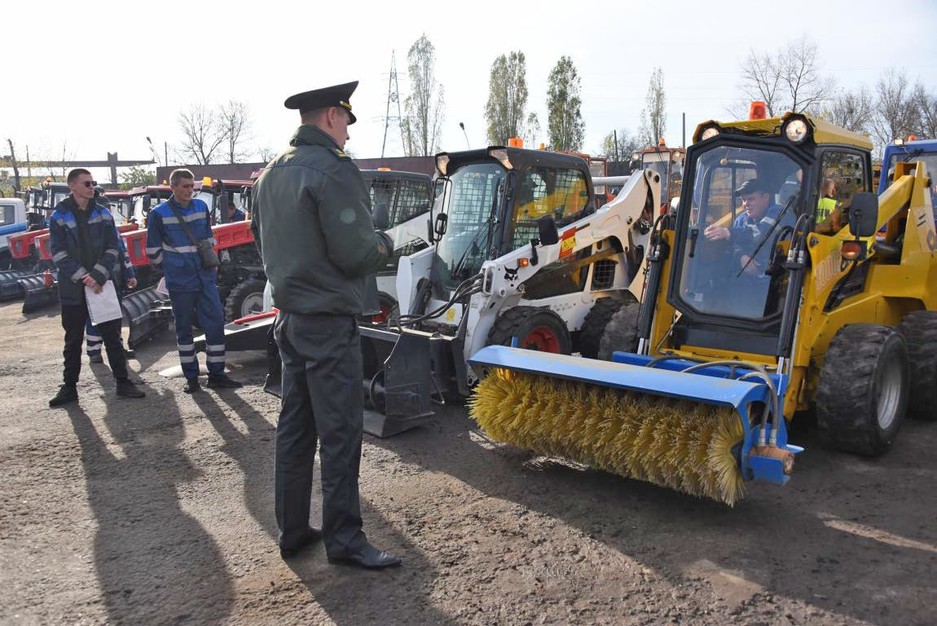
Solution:
<path fill-rule="evenodd" d="M 937 311 L 907 314 L 898 332 L 908 347 L 911 370 L 908 416 L 937 421 Z"/>

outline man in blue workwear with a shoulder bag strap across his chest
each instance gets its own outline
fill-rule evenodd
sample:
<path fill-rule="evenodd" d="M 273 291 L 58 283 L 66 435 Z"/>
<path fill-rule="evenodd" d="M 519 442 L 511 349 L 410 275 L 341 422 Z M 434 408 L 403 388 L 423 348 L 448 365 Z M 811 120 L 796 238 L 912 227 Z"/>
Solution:
<path fill-rule="evenodd" d="M 224 312 L 218 296 L 217 269 L 202 266 L 198 242 L 211 240 L 208 206 L 193 198 L 195 177 L 187 169 L 169 176 L 172 197 L 150 211 L 147 217 L 146 254 L 154 267 L 162 269 L 172 300 L 179 362 L 185 374 L 183 391 L 201 390 L 198 358 L 192 326 L 205 332 L 205 362 L 208 386 L 234 389 L 241 386 L 224 371 Z M 181 221 L 180 221 L 181 220 Z M 191 234 L 191 236 L 190 236 Z"/>

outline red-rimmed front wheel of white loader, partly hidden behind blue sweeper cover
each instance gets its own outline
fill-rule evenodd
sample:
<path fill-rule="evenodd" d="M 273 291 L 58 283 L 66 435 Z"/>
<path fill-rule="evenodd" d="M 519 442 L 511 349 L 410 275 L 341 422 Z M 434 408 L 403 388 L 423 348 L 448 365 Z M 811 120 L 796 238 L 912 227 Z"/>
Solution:
<path fill-rule="evenodd" d="M 572 339 L 566 322 L 545 307 L 516 306 L 495 320 L 488 333 L 488 345 L 509 346 L 517 337 L 517 346 L 526 350 L 569 354 Z"/>

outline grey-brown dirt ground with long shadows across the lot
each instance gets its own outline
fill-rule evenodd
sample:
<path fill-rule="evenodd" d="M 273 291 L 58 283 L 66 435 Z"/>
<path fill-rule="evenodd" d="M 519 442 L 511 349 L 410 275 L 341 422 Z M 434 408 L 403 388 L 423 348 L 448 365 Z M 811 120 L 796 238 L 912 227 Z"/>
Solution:
<path fill-rule="evenodd" d="M 61 380 L 57 313 L 0 305 L 0 622 L 8 624 L 933 624 L 937 424 L 860 459 L 807 448 L 734 509 L 494 444 L 461 406 L 366 436 L 365 531 L 402 568 L 289 564 L 273 519 L 277 400 L 259 354 L 236 391 L 187 396 L 131 361 L 144 400 L 83 365 Z M 126 333 L 126 331 L 125 331 Z M 313 509 L 318 514 L 318 500 Z"/>

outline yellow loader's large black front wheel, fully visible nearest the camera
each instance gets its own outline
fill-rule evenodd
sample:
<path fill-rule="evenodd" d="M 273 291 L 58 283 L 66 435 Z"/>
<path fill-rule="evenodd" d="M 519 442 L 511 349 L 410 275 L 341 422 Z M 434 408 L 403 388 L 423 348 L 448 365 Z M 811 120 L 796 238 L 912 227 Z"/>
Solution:
<path fill-rule="evenodd" d="M 830 342 L 817 388 L 817 429 L 833 448 L 878 456 L 908 404 L 908 350 L 893 328 L 849 324 Z"/>

